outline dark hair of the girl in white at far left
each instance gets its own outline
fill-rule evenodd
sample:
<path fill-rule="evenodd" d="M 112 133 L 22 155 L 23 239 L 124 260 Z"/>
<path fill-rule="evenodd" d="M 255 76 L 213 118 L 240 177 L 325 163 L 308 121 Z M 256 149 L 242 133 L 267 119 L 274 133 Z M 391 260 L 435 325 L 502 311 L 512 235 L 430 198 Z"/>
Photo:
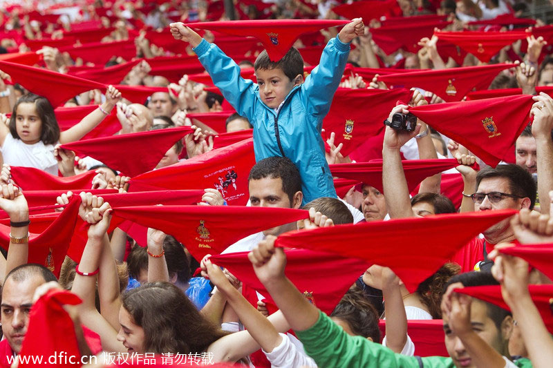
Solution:
<path fill-rule="evenodd" d="M 59 126 L 57 125 L 54 108 L 48 99 L 34 93 L 19 97 L 15 106 L 13 106 L 12 117 L 10 117 L 10 133 L 12 133 L 12 137 L 21 139 L 17 134 L 15 119 L 17 119 L 17 106 L 24 103 L 35 104 L 37 115 L 42 122 L 40 140 L 44 144 L 56 144 L 59 141 Z"/>

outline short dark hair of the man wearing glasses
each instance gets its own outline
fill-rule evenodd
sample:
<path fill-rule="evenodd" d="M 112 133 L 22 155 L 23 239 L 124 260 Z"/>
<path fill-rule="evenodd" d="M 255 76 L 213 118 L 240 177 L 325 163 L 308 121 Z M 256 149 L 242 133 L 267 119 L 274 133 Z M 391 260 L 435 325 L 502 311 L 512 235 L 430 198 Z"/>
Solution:
<path fill-rule="evenodd" d="M 528 197 L 530 199 L 530 209 L 534 208 L 536 204 L 536 182 L 532 174 L 528 173 L 521 166 L 508 164 L 498 165 L 496 168 L 487 167 L 482 168 L 476 174 L 476 190 L 480 186 L 480 182 L 483 179 L 490 179 L 494 177 L 505 177 L 509 180 L 510 194 L 518 195 L 519 197 Z"/>

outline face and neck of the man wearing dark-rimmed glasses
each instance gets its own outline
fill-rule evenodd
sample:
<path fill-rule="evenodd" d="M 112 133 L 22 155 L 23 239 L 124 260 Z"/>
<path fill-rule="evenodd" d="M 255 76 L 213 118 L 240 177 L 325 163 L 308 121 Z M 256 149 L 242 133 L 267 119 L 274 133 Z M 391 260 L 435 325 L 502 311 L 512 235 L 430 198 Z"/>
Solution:
<path fill-rule="evenodd" d="M 490 193 L 490 192 L 500 192 L 506 194 L 512 194 L 511 189 L 509 188 L 509 180 L 506 177 L 489 177 L 482 179 L 480 185 L 476 189 L 476 193 Z M 489 210 L 503 210 L 503 209 L 514 209 L 516 211 L 522 209 L 521 199 L 503 197 L 502 200 L 496 203 L 491 203 L 489 198 L 486 196 L 484 200 L 480 203 L 474 204 L 474 211 L 489 211 Z M 507 231 L 510 226 L 510 219 L 507 218 L 491 226 L 489 229 L 482 231 L 482 234 L 485 238 L 495 238 L 498 234 Z"/>

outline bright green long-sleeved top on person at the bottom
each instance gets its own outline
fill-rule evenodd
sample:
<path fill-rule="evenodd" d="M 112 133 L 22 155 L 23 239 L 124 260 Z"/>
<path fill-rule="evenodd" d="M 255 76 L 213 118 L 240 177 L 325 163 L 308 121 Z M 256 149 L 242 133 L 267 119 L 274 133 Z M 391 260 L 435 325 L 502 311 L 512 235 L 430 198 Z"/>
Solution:
<path fill-rule="evenodd" d="M 455 368 L 449 357 L 403 356 L 362 336 L 350 336 L 323 312 L 319 312 L 315 325 L 296 331 L 296 335 L 320 368 Z M 527 359 L 514 363 L 521 368 L 532 367 Z"/>

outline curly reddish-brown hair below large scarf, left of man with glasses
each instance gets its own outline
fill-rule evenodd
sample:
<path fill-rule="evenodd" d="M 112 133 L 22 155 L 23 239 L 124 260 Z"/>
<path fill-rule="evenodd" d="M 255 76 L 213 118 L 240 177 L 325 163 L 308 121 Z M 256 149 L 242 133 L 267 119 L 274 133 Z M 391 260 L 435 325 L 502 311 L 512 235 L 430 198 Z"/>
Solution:
<path fill-rule="evenodd" d="M 420 300 L 428 307 L 433 319 L 442 318 L 440 304 L 442 303 L 442 296 L 444 295 L 444 285 L 460 271 L 461 267 L 458 264 L 449 262 L 440 267 L 440 269 L 427 278 L 427 280 L 419 284 L 417 292 L 420 295 Z"/>

